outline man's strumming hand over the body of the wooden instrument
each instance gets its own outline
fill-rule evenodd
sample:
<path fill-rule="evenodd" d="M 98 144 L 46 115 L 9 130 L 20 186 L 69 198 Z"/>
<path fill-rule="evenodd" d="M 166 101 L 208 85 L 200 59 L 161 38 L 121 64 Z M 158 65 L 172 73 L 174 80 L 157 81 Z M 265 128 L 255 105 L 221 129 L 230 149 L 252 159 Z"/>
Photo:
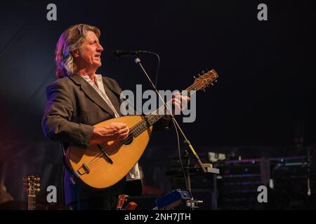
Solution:
<path fill-rule="evenodd" d="M 105 141 L 119 141 L 129 136 L 129 127 L 124 123 L 110 123 L 105 127 L 95 127 L 90 141 L 101 144 Z"/>

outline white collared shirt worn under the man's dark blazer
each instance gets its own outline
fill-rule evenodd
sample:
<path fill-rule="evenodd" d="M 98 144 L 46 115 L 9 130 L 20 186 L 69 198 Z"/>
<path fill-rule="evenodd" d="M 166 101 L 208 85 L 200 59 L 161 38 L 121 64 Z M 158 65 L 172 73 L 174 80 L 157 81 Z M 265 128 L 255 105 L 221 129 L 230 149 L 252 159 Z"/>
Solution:
<path fill-rule="evenodd" d="M 81 76 L 81 77 L 84 78 L 84 80 L 86 80 L 86 82 L 89 83 L 93 87 L 93 89 L 96 90 L 96 92 L 98 92 L 100 97 L 104 99 L 105 103 L 107 103 L 107 105 L 110 106 L 110 108 L 114 112 L 115 118 L 118 118 L 119 113 L 117 113 L 117 110 L 114 108 L 112 102 L 110 101 L 109 97 L 107 97 L 107 94 L 105 93 L 102 75 L 95 74 L 94 76 L 96 76 L 96 82 L 98 83 L 98 86 L 96 86 L 96 84 L 90 79 L 89 76 Z M 126 181 L 134 181 L 138 179 L 140 179 L 140 172 L 139 172 L 139 167 L 138 167 L 138 162 L 137 162 L 136 165 L 129 171 L 129 174 L 126 175 Z"/>

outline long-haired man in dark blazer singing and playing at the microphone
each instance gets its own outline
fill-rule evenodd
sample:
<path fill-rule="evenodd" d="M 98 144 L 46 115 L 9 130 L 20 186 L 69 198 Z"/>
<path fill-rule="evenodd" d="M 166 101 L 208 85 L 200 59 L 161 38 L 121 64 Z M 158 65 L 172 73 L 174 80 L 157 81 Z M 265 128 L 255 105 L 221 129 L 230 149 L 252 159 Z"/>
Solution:
<path fill-rule="evenodd" d="M 42 128 L 48 139 L 62 142 L 64 148 L 70 145 L 86 148 L 91 141 L 101 144 L 129 136 L 129 127 L 124 123 L 93 127 L 104 120 L 121 116 L 121 88 L 117 81 L 96 73 L 104 50 L 99 37 L 97 27 L 74 25 L 61 34 L 56 46 L 58 79 L 46 88 L 48 105 Z M 182 96 L 180 99 L 190 100 Z M 173 99 L 173 104 L 180 108 L 179 99 Z M 169 120 L 165 116 L 159 126 L 169 125 Z M 73 209 L 115 209 L 118 195 L 124 193 L 128 186 L 126 181 L 140 182 L 138 164 L 124 179 L 104 190 L 81 186 L 65 169 L 65 204 L 71 204 Z M 133 191 L 141 193 L 141 189 Z"/>

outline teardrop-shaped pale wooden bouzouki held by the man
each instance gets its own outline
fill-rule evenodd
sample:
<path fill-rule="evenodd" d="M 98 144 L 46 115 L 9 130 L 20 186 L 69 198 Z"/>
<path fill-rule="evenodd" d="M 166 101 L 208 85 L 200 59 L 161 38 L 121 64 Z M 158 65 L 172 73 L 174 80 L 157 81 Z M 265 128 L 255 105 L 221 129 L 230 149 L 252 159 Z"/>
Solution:
<path fill-rule="evenodd" d="M 216 82 L 215 70 L 207 71 L 195 78 L 187 87 L 190 90 L 204 90 Z M 147 116 L 121 116 L 94 125 L 104 127 L 110 123 L 125 123 L 129 127 L 129 137 L 122 141 L 107 141 L 87 148 L 70 146 L 67 148 L 67 163 L 77 178 L 91 188 L 108 188 L 119 182 L 136 165 L 150 140 L 152 125 L 164 117 L 164 106 Z"/>

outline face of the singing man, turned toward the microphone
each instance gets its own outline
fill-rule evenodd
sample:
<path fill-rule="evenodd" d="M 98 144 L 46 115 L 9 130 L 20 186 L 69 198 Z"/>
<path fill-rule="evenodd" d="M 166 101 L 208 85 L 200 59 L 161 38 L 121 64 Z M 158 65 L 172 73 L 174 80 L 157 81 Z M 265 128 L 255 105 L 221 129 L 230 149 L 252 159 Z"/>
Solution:
<path fill-rule="evenodd" d="M 93 31 L 88 31 L 86 40 L 79 48 L 78 66 L 98 69 L 101 66 L 101 52 L 103 52 L 103 47 L 100 45 L 98 37 Z"/>

